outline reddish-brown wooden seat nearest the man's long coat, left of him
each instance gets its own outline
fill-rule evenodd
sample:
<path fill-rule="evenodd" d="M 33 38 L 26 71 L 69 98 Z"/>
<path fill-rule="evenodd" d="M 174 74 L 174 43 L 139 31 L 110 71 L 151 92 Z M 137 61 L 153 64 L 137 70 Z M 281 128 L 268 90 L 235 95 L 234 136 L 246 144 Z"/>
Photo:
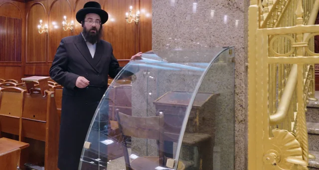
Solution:
<path fill-rule="evenodd" d="M 59 144 L 59 120 L 55 104 L 54 91 L 41 89 L 29 89 L 25 95 L 22 112 L 23 137 L 45 142 L 44 168 L 57 170 L 58 144 Z"/>

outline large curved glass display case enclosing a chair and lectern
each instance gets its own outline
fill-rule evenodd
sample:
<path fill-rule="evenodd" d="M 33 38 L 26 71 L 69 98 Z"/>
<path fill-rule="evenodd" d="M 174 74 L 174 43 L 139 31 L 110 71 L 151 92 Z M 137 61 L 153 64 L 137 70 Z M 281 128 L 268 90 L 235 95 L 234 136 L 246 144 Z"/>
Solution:
<path fill-rule="evenodd" d="M 234 98 L 231 51 L 150 51 L 127 64 L 95 112 L 79 169 L 213 170 L 218 130 L 229 132 L 219 147 L 234 148 L 233 103 L 225 102 Z"/>

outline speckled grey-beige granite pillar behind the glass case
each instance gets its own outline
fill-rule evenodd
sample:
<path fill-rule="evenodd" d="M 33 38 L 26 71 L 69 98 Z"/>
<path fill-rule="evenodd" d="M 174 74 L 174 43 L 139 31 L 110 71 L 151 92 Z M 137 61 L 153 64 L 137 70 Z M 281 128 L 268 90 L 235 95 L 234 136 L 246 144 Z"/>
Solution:
<path fill-rule="evenodd" d="M 247 169 L 248 3 L 248 0 L 152 1 L 153 50 L 235 47 L 235 170 Z"/>

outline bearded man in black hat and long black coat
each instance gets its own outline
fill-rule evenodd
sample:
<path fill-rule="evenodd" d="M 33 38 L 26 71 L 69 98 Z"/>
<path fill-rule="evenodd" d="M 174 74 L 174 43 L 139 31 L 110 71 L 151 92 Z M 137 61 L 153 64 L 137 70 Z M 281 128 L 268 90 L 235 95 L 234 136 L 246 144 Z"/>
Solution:
<path fill-rule="evenodd" d="M 121 71 L 112 45 L 102 37 L 108 13 L 95 1 L 76 13 L 82 24 L 79 35 L 64 37 L 57 48 L 51 79 L 63 86 L 58 168 L 78 170 L 86 134 L 95 110 L 107 89 L 108 75 Z M 141 59 L 141 53 L 131 60 Z"/>

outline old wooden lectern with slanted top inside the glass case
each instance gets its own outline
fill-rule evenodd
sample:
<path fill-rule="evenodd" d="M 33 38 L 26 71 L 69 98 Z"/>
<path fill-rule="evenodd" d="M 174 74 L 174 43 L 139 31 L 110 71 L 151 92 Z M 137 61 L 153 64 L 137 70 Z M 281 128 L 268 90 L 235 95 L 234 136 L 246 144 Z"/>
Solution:
<path fill-rule="evenodd" d="M 187 107 L 192 99 L 193 92 L 169 91 L 154 101 L 156 113 L 163 114 L 163 134 L 166 138 L 175 139 L 178 142 L 180 131 Z M 197 92 L 188 115 L 185 133 L 183 135 L 183 146 L 197 147 L 198 158 L 189 150 L 180 154 L 180 158 L 193 158 L 194 167 L 200 170 L 212 170 L 212 156 L 215 139 L 215 110 L 216 98 L 219 93 Z M 173 143 L 164 141 L 165 156 L 173 158 Z M 197 154 L 196 154 L 197 155 Z M 187 160 L 190 161 L 190 160 Z"/>

